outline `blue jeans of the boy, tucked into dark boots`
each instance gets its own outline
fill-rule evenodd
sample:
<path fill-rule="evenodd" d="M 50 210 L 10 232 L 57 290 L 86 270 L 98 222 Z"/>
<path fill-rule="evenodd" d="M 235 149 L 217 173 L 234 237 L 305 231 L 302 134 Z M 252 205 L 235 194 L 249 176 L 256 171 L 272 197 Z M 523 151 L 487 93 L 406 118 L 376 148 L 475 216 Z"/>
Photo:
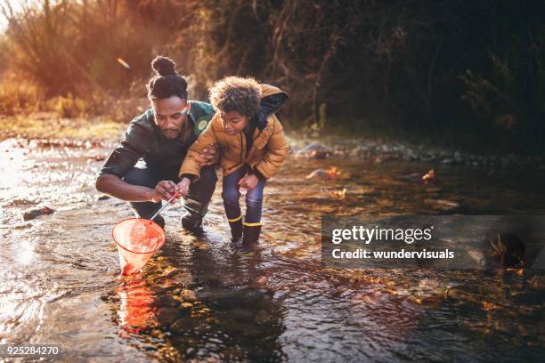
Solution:
<path fill-rule="evenodd" d="M 246 173 L 248 173 L 248 166 L 243 166 L 233 173 L 224 176 L 222 197 L 224 198 L 225 214 L 227 214 L 227 219 L 229 221 L 240 218 L 240 186 L 238 183 Z M 245 223 L 261 222 L 264 185 L 265 181 L 259 181 L 253 190 L 248 190 L 246 192 Z"/>

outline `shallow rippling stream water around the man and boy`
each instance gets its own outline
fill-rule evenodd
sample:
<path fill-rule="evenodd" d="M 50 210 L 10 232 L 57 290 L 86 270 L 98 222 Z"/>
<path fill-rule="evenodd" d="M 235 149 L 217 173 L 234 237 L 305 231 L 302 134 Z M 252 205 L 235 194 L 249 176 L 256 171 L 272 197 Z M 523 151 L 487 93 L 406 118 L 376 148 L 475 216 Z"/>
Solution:
<path fill-rule="evenodd" d="M 289 157 L 266 188 L 256 251 L 229 240 L 219 188 L 196 238 L 166 213 L 167 242 L 119 276 L 98 200 L 108 148 L 0 143 L 0 341 L 61 343 L 66 360 L 538 360 L 540 271 L 324 270 L 321 214 L 544 214 L 543 174 Z M 334 180 L 305 179 L 337 165 Z M 346 190 L 346 191 L 343 191 Z M 23 211 L 54 214 L 23 222 Z M 69 347 L 69 349 L 68 349 Z"/>

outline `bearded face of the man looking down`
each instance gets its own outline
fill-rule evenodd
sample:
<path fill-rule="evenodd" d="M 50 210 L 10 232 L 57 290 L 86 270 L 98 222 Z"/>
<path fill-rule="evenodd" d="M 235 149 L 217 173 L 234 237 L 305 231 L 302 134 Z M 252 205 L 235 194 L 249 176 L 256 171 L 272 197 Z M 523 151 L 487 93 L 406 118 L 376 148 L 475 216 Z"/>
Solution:
<path fill-rule="evenodd" d="M 168 140 L 180 137 L 182 126 L 187 122 L 187 114 L 190 110 L 187 100 L 171 96 L 167 99 L 153 100 L 151 106 L 155 114 L 155 124 L 159 126 L 165 137 Z"/>

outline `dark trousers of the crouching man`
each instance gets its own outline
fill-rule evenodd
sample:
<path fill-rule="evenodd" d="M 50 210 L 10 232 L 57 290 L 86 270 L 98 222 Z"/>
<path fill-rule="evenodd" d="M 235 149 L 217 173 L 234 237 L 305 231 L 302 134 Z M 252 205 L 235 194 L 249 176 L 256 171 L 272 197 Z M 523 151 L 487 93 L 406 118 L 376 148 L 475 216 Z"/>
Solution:
<path fill-rule="evenodd" d="M 132 185 L 148 188 L 155 188 L 159 181 L 174 181 L 175 183 L 180 181 L 177 171 L 167 173 L 149 166 L 134 167 L 126 173 L 123 180 Z M 195 221 L 202 219 L 207 213 L 208 203 L 216 189 L 216 181 L 217 175 L 214 166 L 205 166 L 200 169 L 199 180 L 191 183 L 189 194 L 183 198 L 183 208 L 186 211 L 184 218 L 191 218 Z M 134 214 L 145 219 L 150 219 L 153 214 L 159 211 L 161 205 L 161 202 L 129 202 Z"/>

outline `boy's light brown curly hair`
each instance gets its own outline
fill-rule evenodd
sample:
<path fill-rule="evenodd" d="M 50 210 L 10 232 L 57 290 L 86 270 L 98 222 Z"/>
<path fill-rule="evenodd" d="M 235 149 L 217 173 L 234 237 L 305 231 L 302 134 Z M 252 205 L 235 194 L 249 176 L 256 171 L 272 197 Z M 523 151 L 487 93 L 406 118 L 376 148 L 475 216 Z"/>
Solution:
<path fill-rule="evenodd" d="M 252 118 L 259 112 L 261 87 L 252 77 L 224 77 L 210 88 L 209 97 L 216 111 L 237 111 Z"/>

